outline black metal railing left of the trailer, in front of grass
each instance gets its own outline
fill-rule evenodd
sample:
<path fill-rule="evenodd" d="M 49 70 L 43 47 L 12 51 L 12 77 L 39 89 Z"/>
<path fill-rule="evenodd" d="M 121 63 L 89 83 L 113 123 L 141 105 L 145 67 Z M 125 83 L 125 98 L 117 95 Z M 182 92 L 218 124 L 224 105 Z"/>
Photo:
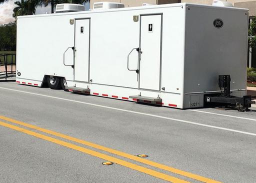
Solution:
<path fill-rule="evenodd" d="M 2 53 L 0 54 L 0 78 L 12 77 L 16 73 L 16 54 Z M 4 67 L 4 69 L 2 69 Z"/>

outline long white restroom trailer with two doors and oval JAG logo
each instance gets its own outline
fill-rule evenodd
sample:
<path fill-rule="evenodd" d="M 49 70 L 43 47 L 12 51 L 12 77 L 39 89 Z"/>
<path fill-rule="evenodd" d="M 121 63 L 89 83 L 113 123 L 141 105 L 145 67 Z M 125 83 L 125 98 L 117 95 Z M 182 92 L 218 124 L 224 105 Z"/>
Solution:
<path fill-rule="evenodd" d="M 192 3 L 18 16 L 16 82 L 192 108 L 229 74 L 241 97 L 247 19 L 248 9 Z"/>

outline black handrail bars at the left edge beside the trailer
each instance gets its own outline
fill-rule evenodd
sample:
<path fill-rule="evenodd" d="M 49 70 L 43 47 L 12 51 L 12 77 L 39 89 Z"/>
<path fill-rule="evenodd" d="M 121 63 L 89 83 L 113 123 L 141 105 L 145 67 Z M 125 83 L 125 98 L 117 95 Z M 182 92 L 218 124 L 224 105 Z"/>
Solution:
<path fill-rule="evenodd" d="M 10 63 L 8 63 L 8 57 L 11 58 Z M 15 62 L 13 62 L 13 58 L 15 58 Z M 3 63 L 1 63 L 2 60 L 3 60 Z M 14 54 L 14 53 L 0 54 L 0 66 L 3 66 L 3 65 L 5 68 L 5 71 L 0 71 L 0 76 L 5 75 L 5 79 L 7 79 L 8 74 L 15 74 L 15 71 L 13 71 L 13 65 L 16 65 L 16 54 Z M 8 71 L 8 65 L 11 65 L 10 71 Z"/>

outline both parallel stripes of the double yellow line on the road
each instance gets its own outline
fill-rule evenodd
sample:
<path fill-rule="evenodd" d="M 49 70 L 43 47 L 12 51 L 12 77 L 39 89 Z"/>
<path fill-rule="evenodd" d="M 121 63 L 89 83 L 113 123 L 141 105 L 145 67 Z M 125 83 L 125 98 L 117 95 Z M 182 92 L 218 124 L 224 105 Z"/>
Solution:
<path fill-rule="evenodd" d="M 58 132 L 55 132 L 55 131 L 52 131 L 52 130 L 41 128 L 41 127 L 38 127 L 38 126 L 35 126 L 35 125 L 32 125 L 32 124 L 28 124 L 28 123 L 25 123 L 25 122 L 21 122 L 21 121 L 15 120 L 15 119 L 11 119 L 11 118 L 8 118 L 8 117 L 5 117 L 5 116 L 0 116 L 0 119 L 6 120 L 8 122 L 15 123 L 15 124 L 19 124 L 19 125 L 31 128 L 31 129 L 35 129 L 35 130 L 38 130 L 38 131 L 41 131 L 41 132 L 44 132 L 44 133 L 48 133 L 48 134 L 51 134 L 51 135 L 54 135 L 54 136 L 58 136 L 58 137 L 61 137 L 61 138 L 64 138 L 64 139 L 67 139 L 67 140 L 70 140 L 70 141 L 81 143 L 83 145 L 87 145 L 87 146 L 90 146 L 90 147 L 93 147 L 93 148 L 97 148 L 97 149 L 100 149 L 100 150 L 103 150 L 103 151 L 106 151 L 106 152 L 110 152 L 112 154 L 116 154 L 116 155 L 119 155 L 119 156 L 122 156 L 122 157 L 125 157 L 125 158 L 128 158 L 128 159 L 132 159 L 132 160 L 135 160 L 135 161 L 138 161 L 138 162 L 156 167 L 156 168 L 160 168 L 160 169 L 163 169 L 163 170 L 166 170 L 166 171 L 170 171 L 172 173 L 176 173 L 176 174 L 186 176 L 186 177 L 189 177 L 189 178 L 192 178 L 192 179 L 195 179 L 195 180 L 199 180 L 201 182 L 220 183 L 219 181 L 212 180 L 212 179 L 200 176 L 200 175 L 189 173 L 189 172 L 186 172 L 186 171 L 183 171 L 183 170 L 180 170 L 180 169 L 176 169 L 176 168 L 166 166 L 166 165 L 154 162 L 154 161 L 150 161 L 148 159 L 143 159 L 143 158 L 140 158 L 138 156 L 134 156 L 134 155 L 131 155 L 131 154 L 128 154 L 128 153 L 125 153 L 125 152 L 121 152 L 121 151 L 118 151 L 118 150 L 115 150 L 115 149 L 111 149 L 111 148 L 108 148 L 108 147 L 105 147 L 105 146 L 102 146 L 102 145 L 98 145 L 98 144 L 91 143 L 91 142 L 88 142 L 88 141 L 85 141 L 85 140 L 81 140 L 81 139 L 78 139 L 78 138 L 75 138 L 75 137 L 71 137 L 71 136 L 68 136 L 68 135 L 65 135 L 65 134 L 62 134 L 62 133 L 58 133 Z M 29 135 L 32 135 L 32 136 L 35 136 L 35 137 L 38 137 L 38 138 L 41 138 L 41 139 L 44 139 L 44 140 L 47 140 L 47 141 L 50 141 L 50 142 L 53 142 L 53 143 L 56 143 L 56 144 L 59 144 L 59 145 L 62 145 L 62 146 L 65 146 L 65 147 L 68 147 L 68 148 L 72 148 L 72 149 L 84 152 L 84 153 L 92 155 L 92 156 L 99 157 L 101 159 L 105 159 L 107 161 L 114 162 L 116 164 L 120 164 L 122 166 L 131 168 L 131 169 L 134 169 L 134 170 L 137 170 L 137 171 L 140 171 L 140 172 L 152 175 L 152 176 L 155 176 L 157 178 L 161 178 L 163 180 L 167 180 L 167 181 L 170 181 L 170 182 L 173 182 L 173 183 L 187 183 L 188 182 L 186 180 L 182 180 L 182 179 L 176 178 L 174 176 L 170 176 L 170 175 L 167 175 L 167 174 L 164 174 L 164 173 L 161 173 L 161 172 L 158 172 L 158 171 L 155 171 L 155 170 L 152 170 L 152 169 L 149 169 L 149 168 L 146 168 L 146 167 L 134 164 L 134 163 L 130 163 L 130 162 L 122 160 L 122 159 L 118 159 L 118 158 L 115 158 L 115 157 L 112 157 L 112 156 L 109 156 L 109 155 L 106 155 L 106 154 L 103 154 L 103 153 L 100 153 L 100 152 L 97 152 L 97 151 L 94 151 L 94 150 L 90 150 L 90 149 L 87 149 L 87 148 L 84 148 L 84 147 L 81 147 L 81 146 L 78 146 L 78 145 L 75 145 L 75 144 L 72 144 L 72 143 L 68 143 L 68 142 L 65 142 L 65 141 L 62 141 L 62 140 L 59 140 L 59 139 L 56 139 L 56 138 L 52 138 L 50 136 L 46 136 L 46 135 L 31 131 L 31 130 L 28 130 L 28 129 L 25 129 L 25 128 L 21 128 L 21 127 L 18 127 L 18 126 L 15 126 L 15 125 L 12 125 L 12 124 L 9 124 L 9 123 L 6 123 L 6 122 L 0 121 L 0 125 L 4 126 L 4 127 L 14 129 L 14 130 L 17 130 L 17 131 L 20 131 L 20 132 L 23 132 L 23 133 L 26 133 L 26 134 L 29 134 Z"/>

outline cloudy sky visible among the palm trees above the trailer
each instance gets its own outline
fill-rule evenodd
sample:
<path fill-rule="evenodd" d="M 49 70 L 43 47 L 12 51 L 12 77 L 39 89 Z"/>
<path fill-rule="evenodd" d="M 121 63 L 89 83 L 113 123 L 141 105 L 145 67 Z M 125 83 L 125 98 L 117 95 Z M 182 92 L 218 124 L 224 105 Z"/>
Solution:
<path fill-rule="evenodd" d="M 7 2 L 0 4 L 0 24 L 6 24 L 15 19 L 12 17 L 13 8 L 16 6 L 14 2 L 17 0 L 8 0 Z M 89 3 L 85 3 L 85 9 L 89 8 Z M 50 6 L 37 7 L 35 14 L 44 14 L 45 12 L 50 13 Z"/>

